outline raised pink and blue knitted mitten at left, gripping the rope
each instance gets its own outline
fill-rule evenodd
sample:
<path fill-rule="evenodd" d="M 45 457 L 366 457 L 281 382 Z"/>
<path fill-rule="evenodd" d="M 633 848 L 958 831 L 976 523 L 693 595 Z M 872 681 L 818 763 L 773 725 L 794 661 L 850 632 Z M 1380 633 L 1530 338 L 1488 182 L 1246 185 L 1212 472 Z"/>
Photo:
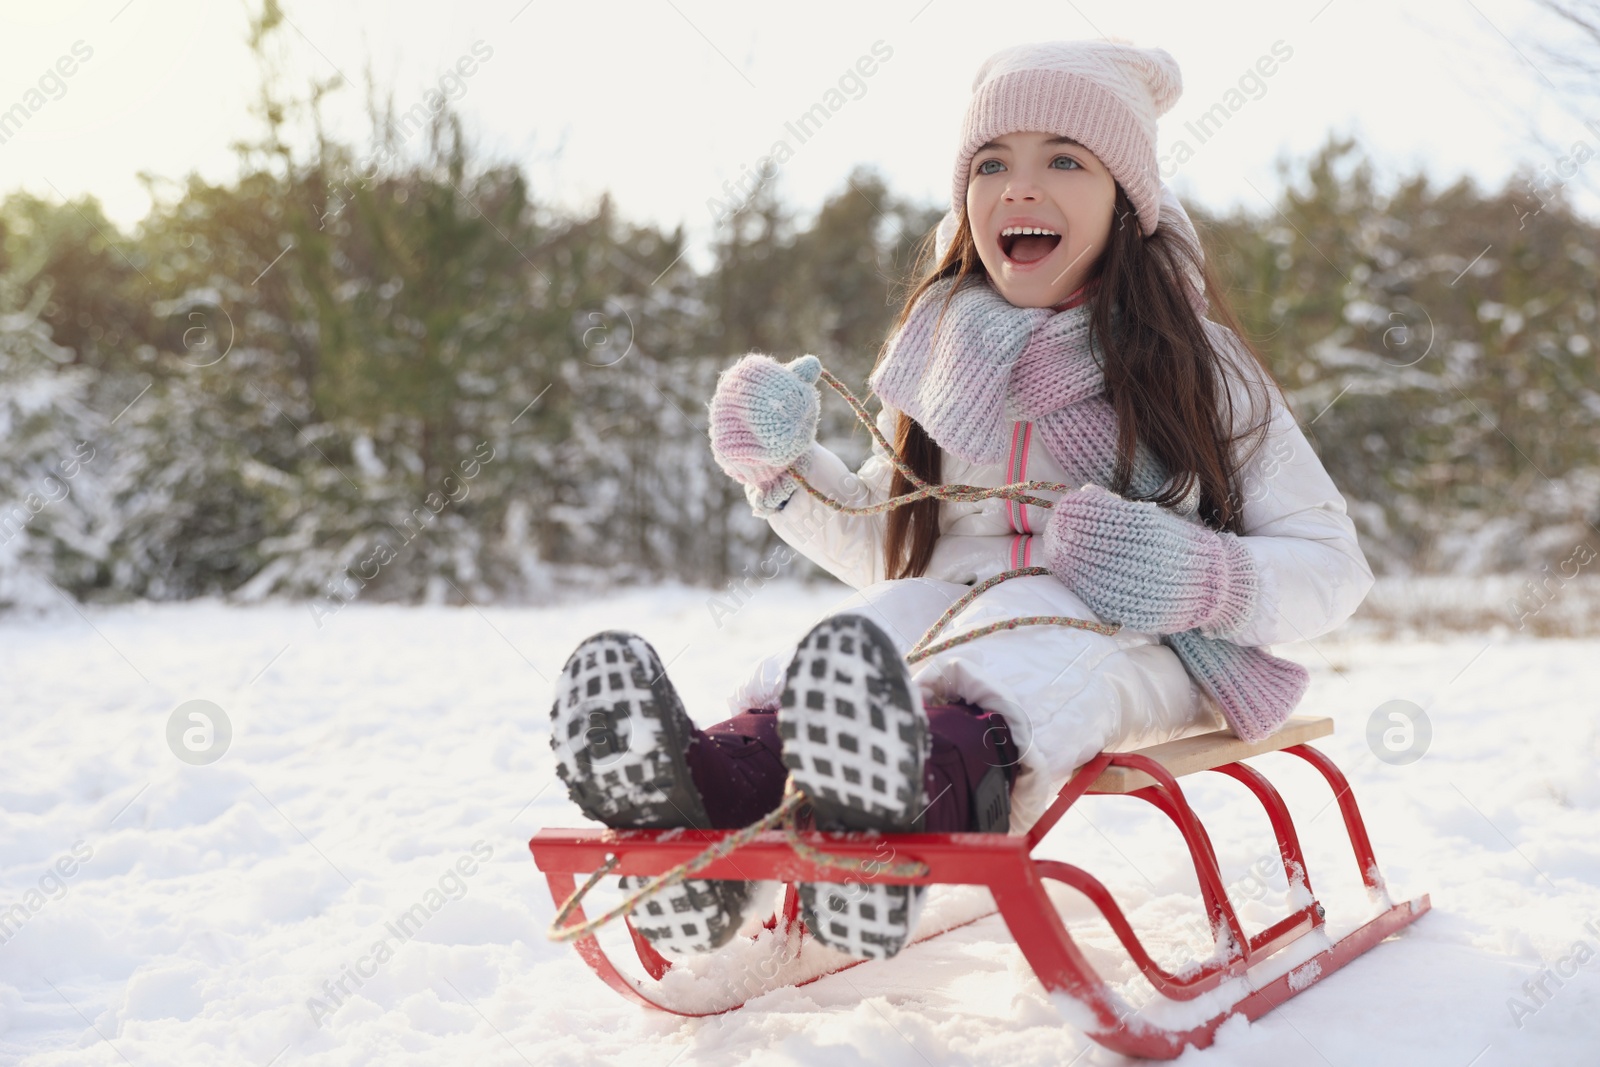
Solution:
<path fill-rule="evenodd" d="M 806 472 L 821 397 L 816 379 L 822 363 L 802 355 L 778 363 L 752 352 L 717 378 L 710 398 L 710 450 L 728 477 L 744 485 L 758 515 L 778 510 L 800 483 L 790 464 Z"/>

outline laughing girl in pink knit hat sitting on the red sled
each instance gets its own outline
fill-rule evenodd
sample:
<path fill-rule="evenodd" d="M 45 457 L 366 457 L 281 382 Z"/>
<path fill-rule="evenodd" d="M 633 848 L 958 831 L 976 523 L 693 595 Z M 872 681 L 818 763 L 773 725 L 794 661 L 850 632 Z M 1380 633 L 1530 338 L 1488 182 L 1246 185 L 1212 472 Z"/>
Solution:
<path fill-rule="evenodd" d="M 851 474 L 816 443 L 816 357 L 750 354 L 722 374 L 717 462 L 779 537 L 858 592 L 758 664 L 733 697 L 744 710 L 707 729 L 643 638 L 579 645 L 550 744 L 587 816 L 742 827 L 792 776 L 822 830 L 1021 832 L 1096 752 L 1218 715 L 1250 739 L 1282 725 L 1309 677 L 1264 646 L 1326 633 L 1373 576 L 1157 176 L 1155 122 L 1181 91 L 1160 48 L 990 56 L 950 213 L 869 378 L 877 426 L 922 483 L 1082 488 L 838 512 L 819 496 L 859 509 L 917 483 L 882 446 Z M 1016 569 L 939 633 L 981 635 L 907 665 L 962 595 Z M 658 947 L 714 949 L 750 889 L 690 880 L 634 920 Z M 872 878 L 800 886 L 811 934 L 858 957 L 896 953 L 922 896 Z"/>

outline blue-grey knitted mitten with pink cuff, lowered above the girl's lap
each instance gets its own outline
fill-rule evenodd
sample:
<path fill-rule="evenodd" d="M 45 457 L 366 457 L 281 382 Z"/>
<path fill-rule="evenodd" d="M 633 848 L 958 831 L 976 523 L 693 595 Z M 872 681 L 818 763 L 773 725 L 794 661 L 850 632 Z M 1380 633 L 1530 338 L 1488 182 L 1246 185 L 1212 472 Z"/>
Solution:
<path fill-rule="evenodd" d="M 1096 614 L 1146 633 L 1237 633 L 1256 606 L 1256 568 L 1230 533 L 1085 485 L 1045 526 L 1045 566 Z"/>

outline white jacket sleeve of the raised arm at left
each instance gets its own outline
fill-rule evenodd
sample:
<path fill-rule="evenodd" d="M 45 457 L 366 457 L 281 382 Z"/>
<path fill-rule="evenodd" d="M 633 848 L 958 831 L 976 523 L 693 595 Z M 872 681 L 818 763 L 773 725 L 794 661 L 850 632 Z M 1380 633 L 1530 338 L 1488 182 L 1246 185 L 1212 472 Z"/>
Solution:
<path fill-rule="evenodd" d="M 898 414 L 883 408 L 877 424 L 885 438 L 894 440 Z M 882 504 L 890 496 L 894 466 L 872 442 L 872 454 L 851 472 L 837 454 L 821 443 L 811 445 L 806 482 L 835 501 L 853 507 Z M 789 547 L 854 589 L 883 581 L 883 534 L 888 512 L 845 515 L 835 512 L 805 490 L 797 490 L 782 507 L 766 514 L 766 522 Z"/>

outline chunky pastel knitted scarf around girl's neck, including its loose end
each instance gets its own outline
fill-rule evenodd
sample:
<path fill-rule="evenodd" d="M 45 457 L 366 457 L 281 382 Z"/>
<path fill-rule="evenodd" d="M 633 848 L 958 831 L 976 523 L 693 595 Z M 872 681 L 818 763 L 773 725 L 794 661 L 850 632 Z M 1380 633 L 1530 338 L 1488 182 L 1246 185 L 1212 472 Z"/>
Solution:
<path fill-rule="evenodd" d="M 939 280 L 917 301 L 869 378 L 872 390 L 920 422 L 942 450 L 976 464 L 1003 462 L 1011 422 L 1027 419 L 1069 480 L 1112 488 L 1117 414 L 1106 398 L 1090 302 L 1061 312 L 1016 307 L 976 277 L 944 307 L 952 285 Z M 1118 320 L 1114 310 L 1114 328 Z M 1149 498 L 1168 480 L 1162 462 L 1139 445 L 1128 493 Z M 1234 733 L 1250 741 L 1277 729 L 1310 680 L 1299 664 L 1200 630 L 1163 641 L 1218 702 Z"/>

